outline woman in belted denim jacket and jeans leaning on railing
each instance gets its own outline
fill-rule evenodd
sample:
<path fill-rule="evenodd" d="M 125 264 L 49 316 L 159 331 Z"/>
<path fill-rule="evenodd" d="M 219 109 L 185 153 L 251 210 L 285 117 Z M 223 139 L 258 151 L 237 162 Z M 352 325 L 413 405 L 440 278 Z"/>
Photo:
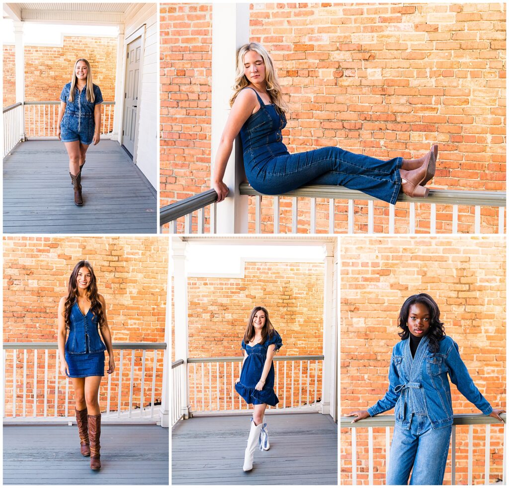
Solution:
<path fill-rule="evenodd" d="M 389 389 L 368 410 L 350 412 L 353 422 L 395 406 L 395 427 L 386 484 L 440 485 L 453 424 L 447 375 L 485 415 L 503 422 L 505 410 L 492 408 L 473 384 L 456 342 L 445 335 L 440 310 L 427 294 L 409 297 L 400 311 L 399 335 L 389 368 Z M 433 450 L 435 462 L 429 454 Z"/>

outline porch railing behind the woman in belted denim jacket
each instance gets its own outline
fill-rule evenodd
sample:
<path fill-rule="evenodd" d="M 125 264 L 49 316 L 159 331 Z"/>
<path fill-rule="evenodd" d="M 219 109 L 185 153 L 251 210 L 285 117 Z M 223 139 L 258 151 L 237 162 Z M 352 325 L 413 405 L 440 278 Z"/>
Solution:
<path fill-rule="evenodd" d="M 505 438 L 505 414 L 501 414 L 504 420 L 503 424 L 503 438 Z M 451 437 L 451 484 L 456 484 L 456 469 L 457 469 L 457 458 L 456 458 L 456 426 L 457 425 L 468 425 L 468 484 L 472 484 L 472 449 L 473 449 L 473 426 L 474 425 L 486 425 L 486 437 L 485 437 L 485 472 L 484 472 L 484 484 L 490 484 L 490 425 L 500 424 L 500 422 L 490 416 L 483 414 L 460 414 L 454 416 L 453 434 Z M 389 451 L 390 451 L 390 427 L 394 426 L 393 415 L 377 415 L 372 418 L 359 420 L 352 423 L 352 417 L 341 418 L 341 428 L 350 428 L 352 430 L 352 485 L 357 484 L 357 429 L 367 428 L 368 432 L 368 484 L 373 485 L 373 428 L 374 427 L 385 427 L 385 467 L 389 464 Z M 502 441 L 503 442 L 503 441 Z M 497 446 L 500 448 L 501 446 Z M 433 456 L 433 453 L 430 453 Z M 433 462 L 430 458 L 430 462 Z M 503 456 L 502 456 L 502 484 L 505 485 L 505 443 L 503 444 Z M 379 484 L 385 484 L 381 482 Z"/>

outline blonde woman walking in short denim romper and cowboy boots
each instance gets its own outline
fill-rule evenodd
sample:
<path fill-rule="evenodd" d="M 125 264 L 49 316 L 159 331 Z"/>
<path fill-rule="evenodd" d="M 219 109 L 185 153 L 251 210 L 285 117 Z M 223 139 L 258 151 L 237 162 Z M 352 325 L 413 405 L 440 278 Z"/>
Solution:
<path fill-rule="evenodd" d="M 74 203 L 83 205 L 81 170 L 89 146 L 99 143 L 101 132 L 102 94 L 92 82 L 92 69 L 86 59 L 74 64 L 71 81 L 60 95 L 56 135 L 64 142 L 69 154 L 69 175 L 74 187 Z"/>

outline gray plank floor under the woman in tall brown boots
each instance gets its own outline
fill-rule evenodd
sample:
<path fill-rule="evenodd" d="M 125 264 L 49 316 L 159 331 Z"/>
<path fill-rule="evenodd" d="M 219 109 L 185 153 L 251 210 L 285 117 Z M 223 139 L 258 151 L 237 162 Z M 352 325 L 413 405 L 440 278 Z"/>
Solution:
<path fill-rule="evenodd" d="M 101 470 L 76 425 L 4 425 L 4 484 L 168 484 L 168 429 L 102 425 Z"/>

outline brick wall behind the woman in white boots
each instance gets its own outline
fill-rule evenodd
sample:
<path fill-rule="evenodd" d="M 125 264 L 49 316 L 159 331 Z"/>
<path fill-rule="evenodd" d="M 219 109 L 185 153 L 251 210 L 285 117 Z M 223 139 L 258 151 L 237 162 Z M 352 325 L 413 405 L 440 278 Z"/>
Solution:
<path fill-rule="evenodd" d="M 245 264 L 243 278 L 190 277 L 189 357 L 241 357 L 240 343 L 249 314 L 256 305 L 267 308 L 274 328 L 282 337 L 283 346 L 278 357 L 322 354 L 323 272 L 322 263 L 249 262 Z M 278 364 L 276 361 L 274 367 L 278 371 L 275 390 L 280 401 L 279 407 L 284 404 L 289 407 L 292 401 L 294 407 L 313 403 L 315 377 L 316 399 L 320 398 L 322 361 L 310 361 L 309 364 L 307 361 L 288 362 L 286 381 L 285 363 Z M 232 389 L 232 379 L 240 376 L 240 363 L 234 363 L 232 374 L 232 363 L 222 362 L 219 363 L 219 370 L 216 364 L 212 364 L 210 373 L 209 364 L 189 366 L 192 408 L 202 409 L 202 368 L 205 410 L 216 410 L 218 398 L 221 409 L 224 405 L 229 409 L 246 408 L 244 401 L 241 402 L 239 395 Z M 210 387 L 209 374 L 212 379 Z"/>

